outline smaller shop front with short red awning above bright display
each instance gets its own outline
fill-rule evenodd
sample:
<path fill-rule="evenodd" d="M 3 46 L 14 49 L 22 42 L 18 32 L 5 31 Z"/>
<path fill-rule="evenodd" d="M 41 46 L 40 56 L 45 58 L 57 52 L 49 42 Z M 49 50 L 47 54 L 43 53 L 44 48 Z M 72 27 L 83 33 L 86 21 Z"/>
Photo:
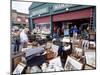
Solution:
<path fill-rule="evenodd" d="M 42 17 L 33 19 L 35 28 L 42 34 L 50 34 L 50 17 Z"/>

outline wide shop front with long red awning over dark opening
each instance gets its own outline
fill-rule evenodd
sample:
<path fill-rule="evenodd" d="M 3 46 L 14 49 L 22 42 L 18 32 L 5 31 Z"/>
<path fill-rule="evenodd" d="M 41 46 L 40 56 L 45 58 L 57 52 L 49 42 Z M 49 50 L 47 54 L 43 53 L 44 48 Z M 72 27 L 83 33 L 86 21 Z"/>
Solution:
<path fill-rule="evenodd" d="M 63 26 L 68 27 L 69 30 L 72 26 L 76 25 L 78 29 L 84 30 L 91 24 L 92 8 L 82 9 L 73 12 L 65 12 L 53 15 L 54 28 L 60 28 L 60 34 L 63 35 Z M 56 31 L 54 31 L 56 32 Z"/>

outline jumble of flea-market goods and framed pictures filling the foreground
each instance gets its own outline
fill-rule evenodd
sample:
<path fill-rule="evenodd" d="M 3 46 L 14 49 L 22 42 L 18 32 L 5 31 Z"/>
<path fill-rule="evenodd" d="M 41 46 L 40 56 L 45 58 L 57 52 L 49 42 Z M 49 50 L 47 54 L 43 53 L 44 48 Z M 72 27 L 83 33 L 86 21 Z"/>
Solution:
<path fill-rule="evenodd" d="M 80 43 L 80 41 L 82 40 L 79 39 L 76 42 Z M 52 39 L 36 46 L 31 43 L 30 46 L 22 49 L 22 54 L 12 57 L 14 65 L 12 72 L 13 74 L 32 74 L 95 69 L 96 51 L 85 50 L 78 45 L 79 43 L 73 44 L 73 40 L 69 38 Z"/>

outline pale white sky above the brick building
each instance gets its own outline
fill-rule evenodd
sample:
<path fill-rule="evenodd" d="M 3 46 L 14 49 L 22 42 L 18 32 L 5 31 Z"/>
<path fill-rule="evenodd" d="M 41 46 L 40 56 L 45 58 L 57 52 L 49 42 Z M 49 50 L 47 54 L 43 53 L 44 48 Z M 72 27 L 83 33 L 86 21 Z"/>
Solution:
<path fill-rule="evenodd" d="M 17 12 L 22 13 L 29 13 L 29 6 L 32 4 L 32 2 L 22 2 L 22 1 L 12 1 L 12 9 L 17 10 Z"/>

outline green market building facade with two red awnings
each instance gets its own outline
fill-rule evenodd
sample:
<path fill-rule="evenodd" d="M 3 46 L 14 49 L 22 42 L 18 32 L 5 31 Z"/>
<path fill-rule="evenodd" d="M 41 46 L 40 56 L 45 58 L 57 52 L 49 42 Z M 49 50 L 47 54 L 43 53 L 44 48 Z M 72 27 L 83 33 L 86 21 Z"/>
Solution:
<path fill-rule="evenodd" d="M 96 7 L 90 5 L 33 2 L 29 7 L 30 28 L 48 29 L 76 25 L 96 31 Z"/>

